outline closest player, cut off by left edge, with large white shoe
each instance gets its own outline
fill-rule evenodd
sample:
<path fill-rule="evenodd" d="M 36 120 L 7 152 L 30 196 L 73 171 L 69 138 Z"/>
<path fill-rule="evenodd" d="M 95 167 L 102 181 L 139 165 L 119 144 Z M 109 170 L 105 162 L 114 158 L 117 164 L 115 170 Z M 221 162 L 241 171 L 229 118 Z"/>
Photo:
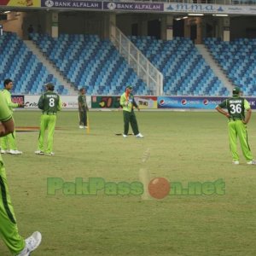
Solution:
<path fill-rule="evenodd" d="M 0 137 L 15 131 L 12 113 L 0 93 Z M 20 236 L 15 219 L 14 207 L 10 200 L 6 172 L 0 154 L 0 235 L 12 255 L 29 256 L 41 243 L 42 236 L 36 231 L 24 240 Z"/>

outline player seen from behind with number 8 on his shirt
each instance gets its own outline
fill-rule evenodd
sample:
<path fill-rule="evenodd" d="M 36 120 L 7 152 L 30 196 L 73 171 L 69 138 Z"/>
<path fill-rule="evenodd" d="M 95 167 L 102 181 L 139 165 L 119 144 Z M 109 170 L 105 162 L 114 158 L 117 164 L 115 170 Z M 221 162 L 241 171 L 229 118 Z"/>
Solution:
<path fill-rule="evenodd" d="M 35 154 L 54 155 L 53 137 L 55 133 L 56 113 L 61 110 L 61 98 L 55 92 L 54 84 L 46 84 L 46 92 L 40 96 L 38 108 L 42 109 L 38 149 Z M 48 129 L 47 147 L 44 152 L 44 136 Z"/>

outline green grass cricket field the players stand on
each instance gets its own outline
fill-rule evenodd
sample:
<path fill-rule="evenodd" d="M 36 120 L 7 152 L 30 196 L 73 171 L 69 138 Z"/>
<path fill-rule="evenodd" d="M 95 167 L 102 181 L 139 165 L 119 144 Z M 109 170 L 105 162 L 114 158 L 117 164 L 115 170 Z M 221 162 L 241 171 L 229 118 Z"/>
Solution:
<path fill-rule="evenodd" d="M 248 125 L 256 157 L 256 114 Z M 39 112 L 15 112 L 17 126 L 38 126 Z M 22 236 L 41 231 L 32 255 L 256 255 L 256 166 L 231 164 L 227 121 L 218 113 L 140 112 L 143 139 L 115 136 L 121 112 L 90 112 L 90 134 L 77 112 L 61 112 L 55 156 L 38 156 L 38 132 L 19 132 L 23 155 L 3 155 Z M 145 152 L 150 153 L 143 163 Z M 139 170 L 171 183 L 223 178 L 225 195 L 47 195 L 47 178 L 139 181 Z M 171 189 L 172 190 L 172 189 Z M 0 241 L 0 255 L 9 255 Z"/>

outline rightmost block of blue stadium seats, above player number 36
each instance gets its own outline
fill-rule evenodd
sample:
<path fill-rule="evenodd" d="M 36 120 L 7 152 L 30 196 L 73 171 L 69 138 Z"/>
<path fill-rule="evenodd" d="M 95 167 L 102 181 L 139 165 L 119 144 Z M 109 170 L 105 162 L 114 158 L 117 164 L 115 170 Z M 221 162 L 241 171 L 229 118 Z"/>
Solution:
<path fill-rule="evenodd" d="M 256 39 L 223 42 L 206 38 L 205 44 L 233 84 L 241 87 L 244 95 L 256 96 Z"/>

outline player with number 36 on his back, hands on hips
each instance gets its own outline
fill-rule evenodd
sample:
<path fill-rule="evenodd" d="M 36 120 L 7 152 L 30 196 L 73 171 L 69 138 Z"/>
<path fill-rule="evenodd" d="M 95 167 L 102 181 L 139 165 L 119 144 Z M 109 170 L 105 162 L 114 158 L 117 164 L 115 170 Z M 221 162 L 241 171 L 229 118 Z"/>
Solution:
<path fill-rule="evenodd" d="M 228 112 L 223 108 L 227 108 Z M 219 113 L 224 114 L 229 119 L 229 138 L 230 138 L 230 150 L 233 157 L 233 164 L 239 165 L 239 156 L 237 153 L 236 140 L 239 137 L 241 144 L 241 151 L 247 160 L 248 165 L 256 165 L 256 161 L 253 160 L 253 154 L 248 144 L 247 138 L 247 123 L 251 119 L 252 109 L 249 102 L 241 97 L 241 90 L 239 87 L 233 89 L 233 96 L 230 99 L 224 100 L 217 107 L 216 110 Z M 245 110 L 247 114 L 245 114 Z"/>

